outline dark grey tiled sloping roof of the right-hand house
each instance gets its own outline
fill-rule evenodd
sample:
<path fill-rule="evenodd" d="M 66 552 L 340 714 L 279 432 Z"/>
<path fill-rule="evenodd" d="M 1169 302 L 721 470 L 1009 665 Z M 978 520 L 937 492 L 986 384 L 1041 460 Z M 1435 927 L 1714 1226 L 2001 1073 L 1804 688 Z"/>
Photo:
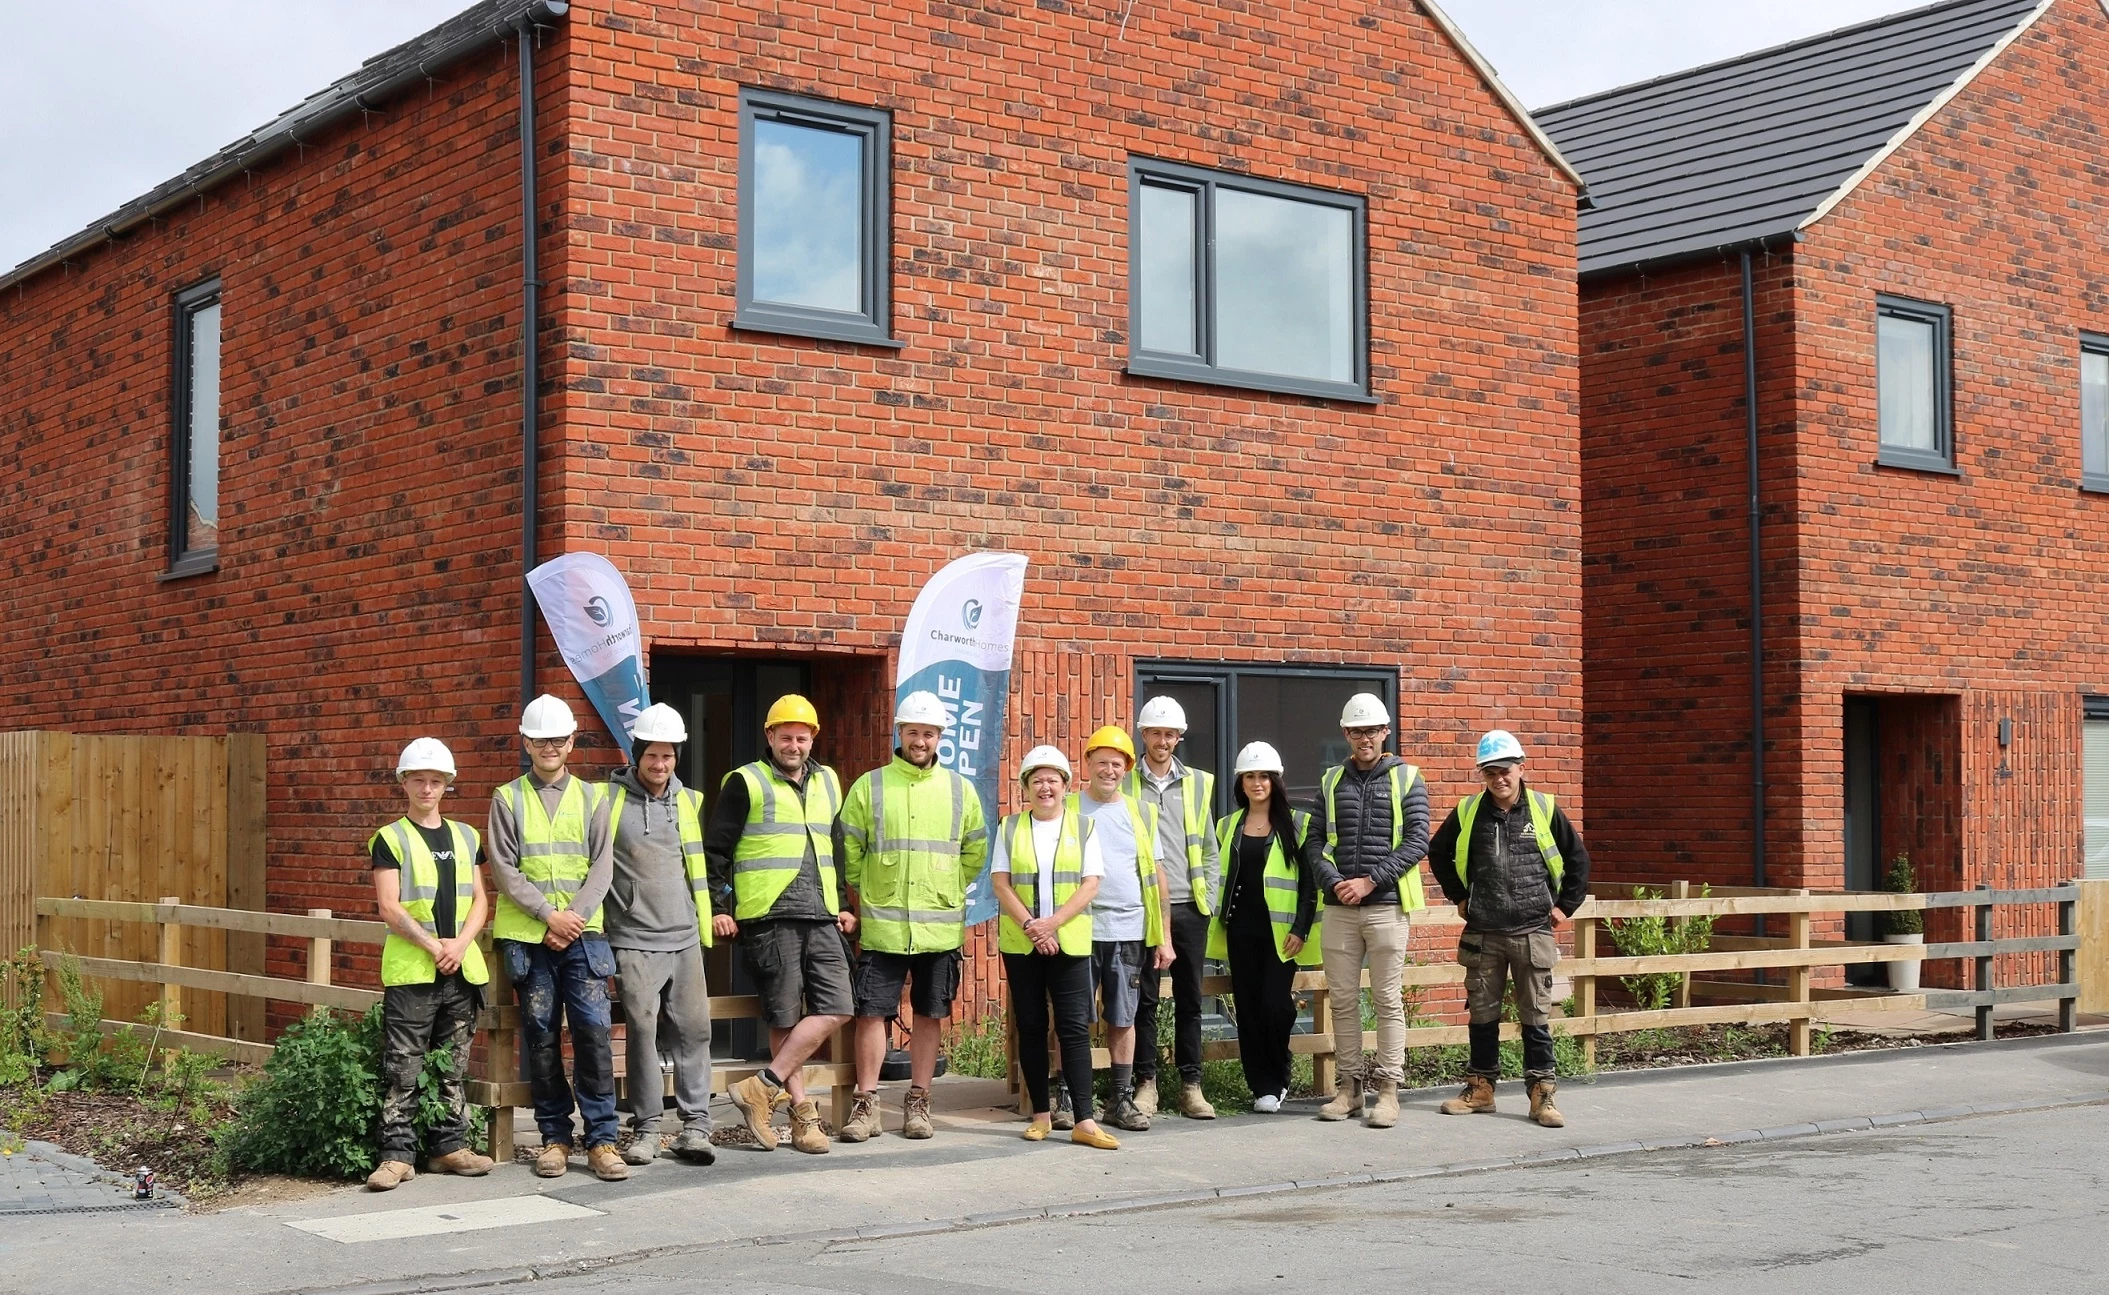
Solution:
<path fill-rule="evenodd" d="M 1951 0 L 1537 110 L 1588 181 L 1580 270 L 1822 217 L 2052 0 Z"/>

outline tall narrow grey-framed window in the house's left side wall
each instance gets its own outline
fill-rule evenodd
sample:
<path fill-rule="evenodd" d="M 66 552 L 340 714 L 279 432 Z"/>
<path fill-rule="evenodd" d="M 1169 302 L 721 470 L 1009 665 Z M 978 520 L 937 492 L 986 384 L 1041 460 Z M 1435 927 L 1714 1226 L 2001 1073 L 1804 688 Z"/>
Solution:
<path fill-rule="evenodd" d="M 169 578 L 219 565 L 219 281 L 175 295 Z"/>

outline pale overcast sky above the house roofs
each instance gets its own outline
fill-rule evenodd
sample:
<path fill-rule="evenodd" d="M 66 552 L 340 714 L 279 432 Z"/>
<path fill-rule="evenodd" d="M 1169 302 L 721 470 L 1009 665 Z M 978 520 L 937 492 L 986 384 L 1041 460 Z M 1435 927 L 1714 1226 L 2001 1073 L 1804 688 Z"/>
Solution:
<path fill-rule="evenodd" d="M 1118 8 L 1120 0 L 1084 2 Z M 1917 6 L 1913 0 L 1443 4 L 1531 108 Z M 0 266 L 74 234 L 466 6 L 466 0 L 6 4 Z"/>

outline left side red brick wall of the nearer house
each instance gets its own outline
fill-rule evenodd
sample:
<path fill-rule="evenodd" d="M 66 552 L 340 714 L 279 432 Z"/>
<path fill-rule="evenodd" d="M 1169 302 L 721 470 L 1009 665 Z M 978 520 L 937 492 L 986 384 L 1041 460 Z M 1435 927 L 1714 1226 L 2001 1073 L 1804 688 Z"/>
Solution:
<path fill-rule="evenodd" d="M 373 911 L 361 844 L 411 736 L 449 742 L 475 823 L 517 768 L 512 67 L 494 49 L 0 293 L 0 728 L 268 734 L 280 911 Z M 158 582 L 171 295 L 213 274 L 219 572 Z"/>

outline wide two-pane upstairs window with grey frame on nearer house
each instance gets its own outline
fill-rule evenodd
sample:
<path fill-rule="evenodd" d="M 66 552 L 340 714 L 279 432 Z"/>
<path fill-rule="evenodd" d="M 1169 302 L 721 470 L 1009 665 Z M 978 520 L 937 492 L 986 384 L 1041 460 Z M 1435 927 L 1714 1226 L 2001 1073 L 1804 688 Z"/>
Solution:
<path fill-rule="evenodd" d="M 1128 373 L 1375 403 L 1365 200 L 1130 158 Z"/>

